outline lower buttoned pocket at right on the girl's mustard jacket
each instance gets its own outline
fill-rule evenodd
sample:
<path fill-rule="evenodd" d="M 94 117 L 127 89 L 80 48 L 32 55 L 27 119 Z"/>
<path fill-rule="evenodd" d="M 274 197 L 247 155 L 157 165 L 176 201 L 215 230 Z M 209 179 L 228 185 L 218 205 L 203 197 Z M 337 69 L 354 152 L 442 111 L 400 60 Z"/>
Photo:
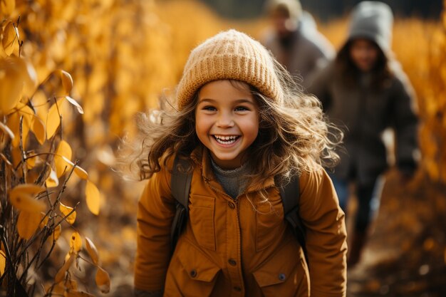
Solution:
<path fill-rule="evenodd" d="M 299 245 L 289 241 L 254 271 L 256 283 L 265 297 L 310 296 L 308 269 L 302 256 Z"/>

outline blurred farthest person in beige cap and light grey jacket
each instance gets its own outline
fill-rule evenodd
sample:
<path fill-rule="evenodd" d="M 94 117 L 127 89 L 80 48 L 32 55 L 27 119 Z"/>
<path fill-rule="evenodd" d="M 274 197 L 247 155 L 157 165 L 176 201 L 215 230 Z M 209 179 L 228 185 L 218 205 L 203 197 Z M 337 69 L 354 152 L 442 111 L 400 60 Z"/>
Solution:
<path fill-rule="evenodd" d="M 305 87 L 307 76 L 335 56 L 333 46 L 299 0 L 269 0 L 266 11 L 272 28 L 264 34 L 264 46 Z"/>

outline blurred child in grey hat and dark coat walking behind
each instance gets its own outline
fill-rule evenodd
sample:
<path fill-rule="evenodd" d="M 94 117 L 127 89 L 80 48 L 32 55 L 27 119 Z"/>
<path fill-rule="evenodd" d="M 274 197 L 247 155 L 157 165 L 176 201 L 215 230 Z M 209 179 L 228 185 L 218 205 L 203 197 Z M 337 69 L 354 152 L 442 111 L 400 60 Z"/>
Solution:
<path fill-rule="evenodd" d="M 358 263 L 365 243 L 372 205 L 380 190 L 375 185 L 388 167 L 383 131 L 395 131 L 396 165 L 403 177 L 417 168 L 415 94 L 400 64 L 393 58 L 393 14 L 387 4 L 360 2 L 352 11 L 346 43 L 336 59 L 311 79 L 316 95 L 331 122 L 345 129 L 345 151 L 332 174 L 341 207 L 346 211 L 349 184 L 358 197 L 356 223 L 349 246 L 348 264 Z"/>

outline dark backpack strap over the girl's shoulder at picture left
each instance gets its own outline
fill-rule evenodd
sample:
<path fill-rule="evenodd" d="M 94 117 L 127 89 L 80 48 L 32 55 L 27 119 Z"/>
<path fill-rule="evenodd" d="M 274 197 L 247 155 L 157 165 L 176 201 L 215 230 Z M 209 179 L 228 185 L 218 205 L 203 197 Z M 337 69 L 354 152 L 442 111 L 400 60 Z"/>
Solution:
<path fill-rule="evenodd" d="M 189 213 L 189 192 L 192 182 L 192 171 L 188 170 L 190 162 L 176 156 L 172 168 L 172 177 L 170 179 L 170 189 L 172 196 L 176 200 L 175 217 L 172 221 L 170 230 L 171 252 L 175 250 L 178 238 L 187 223 Z"/>

